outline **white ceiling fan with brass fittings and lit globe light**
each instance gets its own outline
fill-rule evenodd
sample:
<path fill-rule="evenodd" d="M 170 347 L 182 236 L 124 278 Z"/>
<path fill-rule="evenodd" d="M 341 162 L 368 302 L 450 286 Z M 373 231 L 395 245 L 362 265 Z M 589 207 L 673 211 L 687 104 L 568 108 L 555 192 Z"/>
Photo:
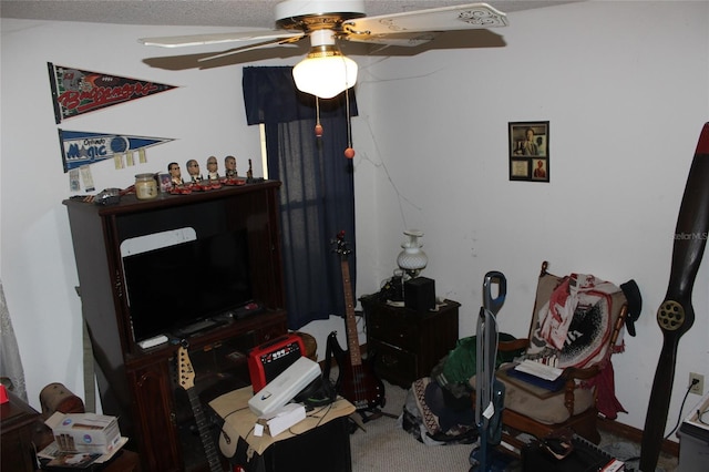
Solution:
<path fill-rule="evenodd" d="M 401 13 L 367 17 L 361 0 L 286 0 L 276 6 L 276 29 L 144 38 L 146 45 L 163 48 L 249 42 L 201 61 L 258 48 L 291 44 L 310 38 L 310 51 L 292 71 L 298 90 L 331 99 L 357 82 L 357 63 L 345 57 L 338 40 L 383 45 L 415 47 L 440 32 L 506 27 L 505 13 L 486 3 L 469 3 Z M 256 41 L 260 41 L 254 43 Z"/>

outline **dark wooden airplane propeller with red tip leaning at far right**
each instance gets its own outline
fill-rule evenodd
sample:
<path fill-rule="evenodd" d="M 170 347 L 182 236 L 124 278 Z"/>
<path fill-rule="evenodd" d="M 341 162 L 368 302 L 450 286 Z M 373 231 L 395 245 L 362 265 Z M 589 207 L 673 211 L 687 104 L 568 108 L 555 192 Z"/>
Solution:
<path fill-rule="evenodd" d="M 691 293 L 709 233 L 707 179 L 709 179 L 709 123 L 706 123 L 702 129 L 689 168 L 675 229 L 667 295 L 657 311 L 657 322 L 662 330 L 664 340 L 643 430 L 641 471 L 654 471 L 657 465 L 675 382 L 679 338 L 691 328 L 695 321 Z"/>

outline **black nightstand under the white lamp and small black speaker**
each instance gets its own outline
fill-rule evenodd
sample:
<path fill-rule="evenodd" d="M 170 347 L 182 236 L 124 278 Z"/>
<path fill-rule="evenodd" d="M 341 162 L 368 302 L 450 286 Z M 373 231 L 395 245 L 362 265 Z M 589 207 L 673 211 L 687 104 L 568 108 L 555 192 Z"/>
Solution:
<path fill-rule="evenodd" d="M 360 298 L 367 320 L 367 352 L 382 379 L 410 388 L 431 374 L 431 369 L 458 341 L 458 301 L 444 300 L 435 311 L 414 311 L 380 300 Z"/>

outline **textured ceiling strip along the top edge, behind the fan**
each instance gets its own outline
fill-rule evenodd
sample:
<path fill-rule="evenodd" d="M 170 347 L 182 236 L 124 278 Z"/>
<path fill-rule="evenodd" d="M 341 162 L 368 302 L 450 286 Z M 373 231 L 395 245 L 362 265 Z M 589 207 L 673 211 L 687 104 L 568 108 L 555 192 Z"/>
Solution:
<path fill-rule="evenodd" d="M 84 21 L 117 24 L 274 28 L 274 10 L 280 0 L 10 0 L 0 1 L 2 18 Z M 567 1 L 492 0 L 486 3 L 510 13 Z M 364 1 L 370 17 L 427 8 L 473 3 L 458 1 Z"/>

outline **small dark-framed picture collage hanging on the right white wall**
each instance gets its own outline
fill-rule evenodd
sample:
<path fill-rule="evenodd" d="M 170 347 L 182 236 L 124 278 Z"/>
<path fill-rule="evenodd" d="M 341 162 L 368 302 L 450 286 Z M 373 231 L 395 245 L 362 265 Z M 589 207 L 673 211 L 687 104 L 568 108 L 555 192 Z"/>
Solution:
<path fill-rule="evenodd" d="M 549 122 L 510 122 L 510 179 L 549 182 Z"/>

